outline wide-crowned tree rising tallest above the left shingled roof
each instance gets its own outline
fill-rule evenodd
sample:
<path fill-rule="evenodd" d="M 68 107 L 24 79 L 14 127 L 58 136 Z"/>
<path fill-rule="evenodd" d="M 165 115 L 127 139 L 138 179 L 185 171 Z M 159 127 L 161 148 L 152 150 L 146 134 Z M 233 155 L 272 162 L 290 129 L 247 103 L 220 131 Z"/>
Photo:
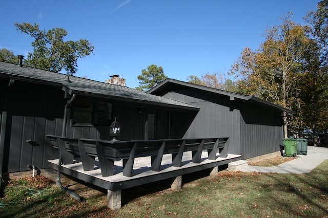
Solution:
<path fill-rule="evenodd" d="M 40 30 L 39 25 L 29 23 L 15 24 L 16 30 L 27 33 L 34 38 L 33 53 L 28 53 L 24 64 L 34 68 L 60 72 L 65 69 L 67 73 L 77 71 L 77 59 L 93 53 L 93 46 L 86 39 L 77 41 L 64 41 L 66 30 L 54 28 Z"/>

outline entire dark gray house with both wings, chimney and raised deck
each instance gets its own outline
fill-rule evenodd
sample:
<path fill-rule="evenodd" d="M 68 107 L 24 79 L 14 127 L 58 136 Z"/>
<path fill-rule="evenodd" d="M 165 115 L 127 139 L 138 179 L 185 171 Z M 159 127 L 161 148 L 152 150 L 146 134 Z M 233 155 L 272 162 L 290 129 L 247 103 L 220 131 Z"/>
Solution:
<path fill-rule="evenodd" d="M 163 179 L 181 180 L 182 175 L 203 169 L 217 172 L 219 166 L 232 161 L 278 152 L 283 138 L 281 114 L 292 113 L 252 96 L 174 79 L 161 82 L 148 93 L 119 84 L 0 62 L 0 179 L 3 175 L 10 178 L 29 175 L 24 173 L 30 172 L 31 166 L 53 172 L 53 175 L 61 169 L 67 175 L 108 189 L 108 201 L 116 201 L 121 189 Z M 170 169 L 170 166 L 176 167 L 171 160 L 162 170 L 161 159 L 153 156 L 152 172 L 147 172 L 146 176 L 126 173 L 132 177 L 124 178 L 120 174 L 113 175 L 111 168 L 112 174 L 105 173 L 105 178 L 102 177 L 103 171 L 93 173 L 100 170 L 94 169 L 95 162 L 87 167 L 92 171 L 90 173 L 76 170 L 82 168 L 81 161 L 75 168 L 60 166 L 60 149 L 53 148 L 47 135 L 78 140 L 79 145 L 82 139 L 109 142 L 112 139 L 109 129 L 114 120 L 121 126 L 119 140 L 126 144 L 133 140 L 134 145 L 140 141 L 153 143 L 149 140 L 157 140 L 163 147 L 165 143 L 178 139 L 176 151 L 181 156 L 177 168 Z M 194 148 L 188 150 L 192 152 L 192 163 L 188 165 L 185 161 L 181 166 L 185 150 L 180 148 L 189 139 L 191 146 L 195 146 L 194 139 L 200 139 L 196 145 L 198 151 L 192 150 Z M 223 149 L 226 149 L 222 152 L 224 157 L 217 158 L 217 153 L 211 152 L 211 160 L 202 162 L 198 154 L 202 154 L 205 139 L 214 140 L 216 148 L 223 143 Z M 221 139 L 224 140 L 219 141 Z M 228 156 L 226 144 L 230 144 Z M 214 150 L 213 146 L 210 150 Z M 97 151 L 98 157 L 99 154 Z M 131 154 L 132 151 L 128 158 L 134 160 Z M 169 155 L 173 159 L 174 154 Z M 153 162 L 156 162 L 156 170 L 153 170 Z M 123 168 L 126 163 L 122 163 Z M 133 161 L 128 165 L 133 167 Z M 147 167 L 142 165 L 140 168 Z M 110 207 L 119 208 L 120 198 L 115 205 Z"/>

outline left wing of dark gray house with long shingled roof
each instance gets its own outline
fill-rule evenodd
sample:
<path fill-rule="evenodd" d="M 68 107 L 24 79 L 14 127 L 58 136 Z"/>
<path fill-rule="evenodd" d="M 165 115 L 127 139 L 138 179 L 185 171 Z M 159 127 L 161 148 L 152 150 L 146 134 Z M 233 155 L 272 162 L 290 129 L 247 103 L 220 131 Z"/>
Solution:
<path fill-rule="evenodd" d="M 126 86 L 0 62 L 0 168 L 47 168 L 58 158 L 47 134 L 107 140 L 115 118 L 120 140 L 176 138 L 176 118 L 198 111 Z"/>

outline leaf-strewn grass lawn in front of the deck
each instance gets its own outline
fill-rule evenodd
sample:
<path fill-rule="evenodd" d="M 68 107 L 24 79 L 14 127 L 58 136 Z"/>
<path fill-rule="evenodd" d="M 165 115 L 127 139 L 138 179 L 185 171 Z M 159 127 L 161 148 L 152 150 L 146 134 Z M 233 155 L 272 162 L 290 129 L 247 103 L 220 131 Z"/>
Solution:
<path fill-rule="evenodd" d="M 0 198 L 0 217 L 328 217 L 327 178 L 328 160 L 298 175 L 224 170 L 180 191 L 130 189 L 123 198 L 139 197 L 113 211 L 106 207 L 106 193 L 72 185 L 87 199 L 78 203 L 54 182 L 36 177 L 10 181 Z"/>

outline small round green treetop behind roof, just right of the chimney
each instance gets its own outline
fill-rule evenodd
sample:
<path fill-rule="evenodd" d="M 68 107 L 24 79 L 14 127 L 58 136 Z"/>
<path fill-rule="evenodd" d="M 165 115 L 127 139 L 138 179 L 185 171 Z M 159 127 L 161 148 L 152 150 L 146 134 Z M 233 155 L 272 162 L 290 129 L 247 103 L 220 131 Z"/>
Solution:
<path fill-rule="evenodd" d="M 139 86 L 136 89 L 147 92 L 168 77 L 164 74 L 162 67 L 152 64 L 147 67 L 147 70 L 141 70 L 141 75 L 137 78 L 139 80 Z"/>

